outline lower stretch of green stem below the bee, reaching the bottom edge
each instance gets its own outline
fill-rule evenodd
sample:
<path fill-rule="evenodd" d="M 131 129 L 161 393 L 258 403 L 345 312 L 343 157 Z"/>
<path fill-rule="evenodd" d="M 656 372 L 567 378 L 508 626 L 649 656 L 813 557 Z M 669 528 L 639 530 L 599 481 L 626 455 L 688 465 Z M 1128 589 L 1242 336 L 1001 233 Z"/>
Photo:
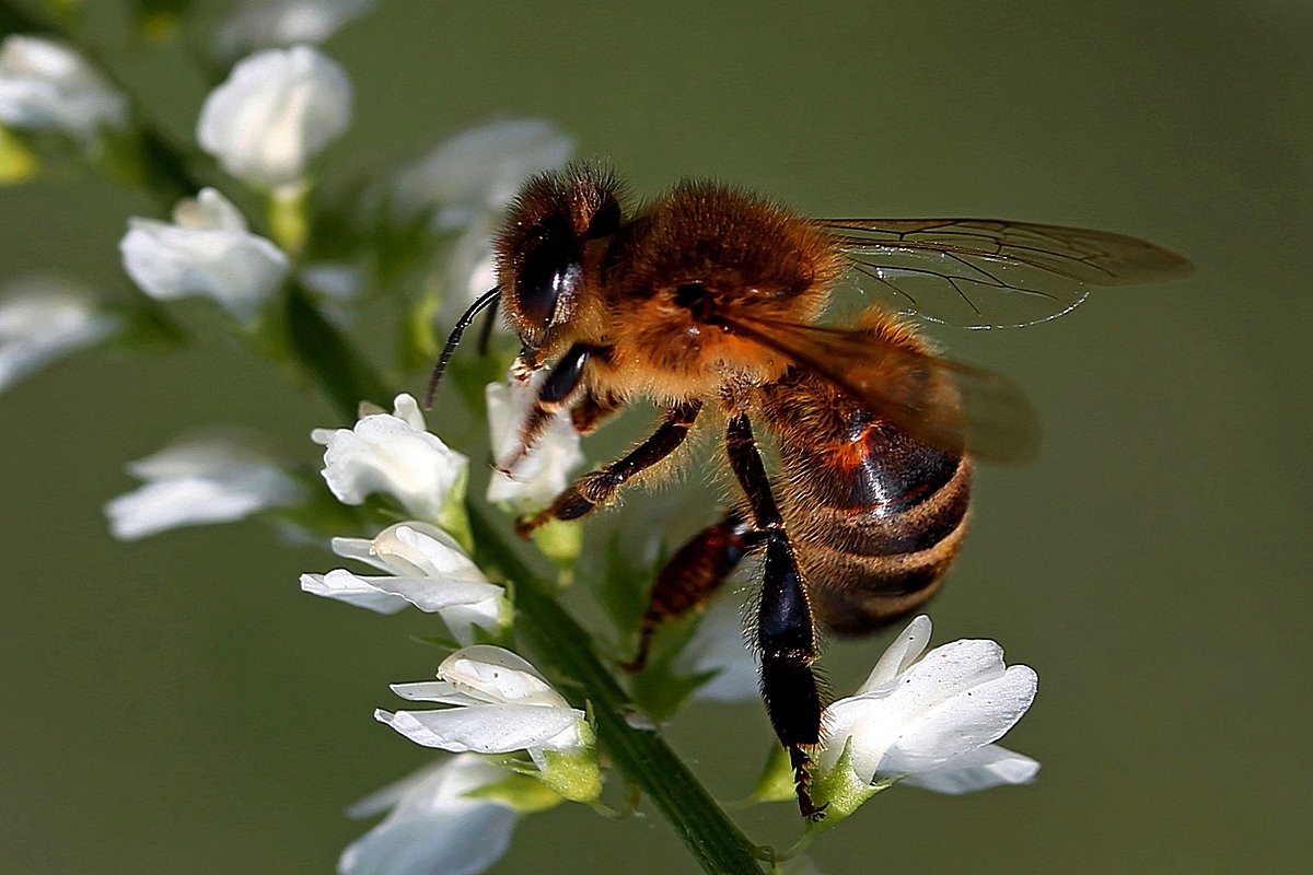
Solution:
<path fill-rule="evenodd" d="M 470 523 L 488 564 L 515 581 L 516 631 L 559 673 L 578 682 L 597 722 L 597 733 L 625 777 L 646 792 L 670 821 L 702 871 L 716 875 L 760 875 L 756 847 L 699 783 L 697 778 L 656 732 L 635 729 L 625 722 L 630 697 L 593 653 L 592 636 L 557 602 L 517 555 L 506 526 L 491 512 L 474 506 Z"/>

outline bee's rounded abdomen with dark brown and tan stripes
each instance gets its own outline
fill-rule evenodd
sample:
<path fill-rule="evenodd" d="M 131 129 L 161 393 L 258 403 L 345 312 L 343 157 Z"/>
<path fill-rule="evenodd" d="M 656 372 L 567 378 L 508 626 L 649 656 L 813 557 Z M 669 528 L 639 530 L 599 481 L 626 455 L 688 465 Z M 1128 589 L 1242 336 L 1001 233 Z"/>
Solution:
<path fill-rule="evenodd" d="M 962 540 L 970 460 L 876 420 L 819 376 L 763 387 L 763 408 L 817 618 L 865 632 L 930 598 Z"/>

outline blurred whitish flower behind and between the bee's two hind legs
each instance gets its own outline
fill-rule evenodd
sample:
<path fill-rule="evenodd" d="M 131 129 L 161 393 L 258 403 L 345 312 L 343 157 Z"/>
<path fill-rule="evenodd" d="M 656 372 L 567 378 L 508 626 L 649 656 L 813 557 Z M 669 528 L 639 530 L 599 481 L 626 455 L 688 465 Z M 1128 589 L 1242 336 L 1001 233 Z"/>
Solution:
<path fill-rule="evenodd" d="M 756 659 L 743 638 L 743 598 L 720 598 L 706 609 L 693 638 L 675 657 L 672 668 L 683 676 L 716 674 L 693 691 L 708 702 L 754 702 L 760 698 Z"/>

